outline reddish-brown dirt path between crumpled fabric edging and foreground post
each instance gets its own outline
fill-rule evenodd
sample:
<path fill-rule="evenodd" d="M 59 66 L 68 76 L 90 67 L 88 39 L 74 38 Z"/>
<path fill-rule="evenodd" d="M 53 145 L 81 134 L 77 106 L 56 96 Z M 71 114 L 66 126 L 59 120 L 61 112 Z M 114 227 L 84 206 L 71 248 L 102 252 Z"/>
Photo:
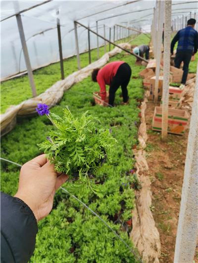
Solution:
<path fill-rule="evenodd" d="M 180 211 L 181 190 L 186 158 L 188 132 L 183 136 L 168 135 L 166 143 L 161 134 L 152 131 L 154 103 L 148 102 L 145 112 L 147 123 L 148 175 L 152 182 L 152 210 L 161 240 L 160 262 L 174 259 L 177 223 Z M 196 253 L 195 262 L 198 253 Z"/>

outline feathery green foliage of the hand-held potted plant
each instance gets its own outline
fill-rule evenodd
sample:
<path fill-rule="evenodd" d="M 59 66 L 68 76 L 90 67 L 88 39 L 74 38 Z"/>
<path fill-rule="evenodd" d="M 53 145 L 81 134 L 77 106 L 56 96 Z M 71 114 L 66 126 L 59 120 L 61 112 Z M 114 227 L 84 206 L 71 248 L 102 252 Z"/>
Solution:
<path fill-rule="evenodd" d="M 98 194 L 97 185 L 89 179 L 89 175 L 98 173 L 106 158 L 110 160 L 116 140 L 108 129 L 97 130 L 96 122 L 99 120 L 88 112 L 78 119 L 66 108 L 63 118 L 53 113 L 48 118 L 56 129 L 38 144 L 40 150 L 44 150 L 57 172 L 68 174 L 70 178 L 79 177 L 75 186 L 87 184 Z"/>

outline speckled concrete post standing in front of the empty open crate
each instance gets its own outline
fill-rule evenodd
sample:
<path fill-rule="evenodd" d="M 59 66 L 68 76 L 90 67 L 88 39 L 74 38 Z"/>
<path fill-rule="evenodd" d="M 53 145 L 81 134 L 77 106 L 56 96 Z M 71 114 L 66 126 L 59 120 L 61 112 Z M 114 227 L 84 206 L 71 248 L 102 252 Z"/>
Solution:
<path fill-rule="evenodd" d="M 169 70 L 170 70 L 170 46 L 171 46 L 171 0 L 165 1 L 164 22 L 164 66 L 163 66 L 163 90 L 162 90 L 162 140 L 166 140 L 168 131 L 168 100 L 169 100 Z"/>

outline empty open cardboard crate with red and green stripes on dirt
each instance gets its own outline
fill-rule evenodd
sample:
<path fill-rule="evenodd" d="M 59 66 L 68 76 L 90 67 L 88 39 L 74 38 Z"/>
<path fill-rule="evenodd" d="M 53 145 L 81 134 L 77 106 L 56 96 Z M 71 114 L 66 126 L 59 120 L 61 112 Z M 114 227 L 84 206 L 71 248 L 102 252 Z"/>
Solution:
<path fill-rule="evenodd" d="M 188 128 L 190 115 L 185 110 L 168 109 L 168 133 L 182 135 Z M 162 108 L 155 107 L 153 114 L 152 130 L 162 130 Z"/>

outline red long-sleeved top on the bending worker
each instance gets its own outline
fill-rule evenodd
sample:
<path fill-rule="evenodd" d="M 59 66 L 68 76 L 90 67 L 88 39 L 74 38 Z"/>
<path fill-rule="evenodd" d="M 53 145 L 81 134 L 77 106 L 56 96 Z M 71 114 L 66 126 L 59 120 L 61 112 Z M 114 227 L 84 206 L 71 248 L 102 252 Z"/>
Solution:
<path fill-rule="evenodd" d="M 117 73 L 118 68 L 124 61 L 115 61 L 106 64 L 103 68 L 98 71 L 97 82 L 100 86 L 101 99 L 106 99 L 106 85 L 111 85 L 112 79 Z"/>

